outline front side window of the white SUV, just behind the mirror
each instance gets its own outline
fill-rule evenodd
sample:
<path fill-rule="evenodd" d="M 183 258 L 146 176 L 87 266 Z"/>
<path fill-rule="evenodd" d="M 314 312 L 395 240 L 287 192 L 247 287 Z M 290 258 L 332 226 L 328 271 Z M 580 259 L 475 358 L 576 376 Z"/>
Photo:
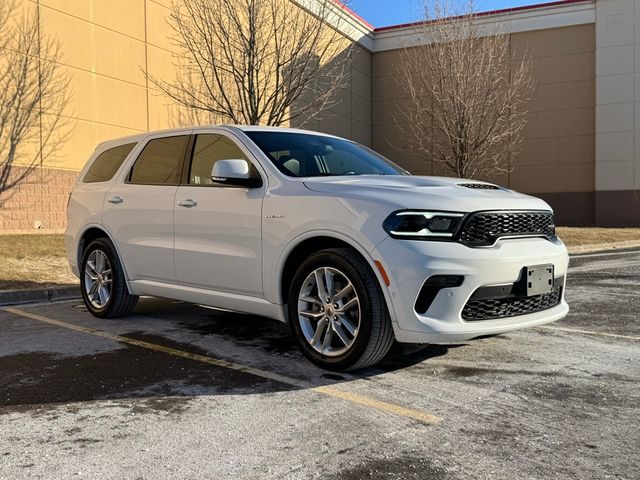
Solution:
<path fill-rule="evenodd" d="M 251 161 L 233 140 L 224 135 L 198 135 L 193 147 L 191 169 L 189 170 L 189 184 L 220 186 L 219 183 L 211 180 L 213 165 L 218 160 L 239 159 L 249 162 L 249 171 L 251 172 L 252 178 L 260 177 Z"/>

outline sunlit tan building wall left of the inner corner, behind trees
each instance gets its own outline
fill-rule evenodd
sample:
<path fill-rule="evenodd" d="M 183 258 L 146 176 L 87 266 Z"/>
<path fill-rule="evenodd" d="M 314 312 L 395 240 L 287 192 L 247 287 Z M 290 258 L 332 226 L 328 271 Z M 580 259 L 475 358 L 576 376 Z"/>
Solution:
<path fill-rule="evenodd" d="M 21 0 L 20 8 L 37 15 L 42 32 L 61 44 L 61 68 L 71 78 L 66 115 L 73 131 L 42 168 L 5 194 L 0 230 L 64 228 L 69 190 L 97 144 L 184 124 L 180 110 L 143 73 L 174 79 L 170 5 L 171 0 Z M 370 57 L 365 48 L 354 49 L 350 83 L 311 128 L 371 144 Z"/>

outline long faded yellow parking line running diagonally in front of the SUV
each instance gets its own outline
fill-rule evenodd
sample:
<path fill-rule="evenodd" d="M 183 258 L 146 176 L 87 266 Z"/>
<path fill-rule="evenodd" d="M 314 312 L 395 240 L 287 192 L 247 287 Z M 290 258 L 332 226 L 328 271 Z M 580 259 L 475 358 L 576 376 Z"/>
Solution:
<path fill-rule="evenodd" d="M 201 355 L 198 353 L 191 353 L 191 352 L 186 352 L 184 350 L 178 350 L 176 348 L 165 347 L 163 345 L 158 345 L 156 343 L 145 342 L 143 340 L 136 340 L 135 338 L 124 337 L 122 335 L 116 335 L 113 333 L 105 332 L 103 330 L 96 330 L 94 328 L 82 327 L 80 325 L 74 325 L 73 323 L 67 323 L 61 320 L 55 320 L 53 318 L 45 317 L 35 313 L 25 312 L 24 310 L 18 310 L 17 308 L 4 307 L 2 308 L 2 310 L 9 313 L 13 313 L 14 315 L 30 318 L 31 320 L 36 320 L 39 322 L 48 323 L 49 325 L 55 325 L 57 327 L 66 328 L 68 330 L 73 330 L 80 333 L 86 333 L 88 335 L 94 335 L 96 337 L 106 338 L 108 340 L 113 340 L 115 342 L 120 342 L 127 345 L 134 345 L 136 347 L 147 348 L 149 350 L 154 350 L 156 352 L 166 353 L 167 355 L 173 355 L 175 357 L 187 358 L 189 360 L 194 360 L 196 362 L 214 365 L 216 367 L 227 368 L 229 370 L 248 373 L 256 377 L 265 378 L 267 380 L 273 380 L 275 382 L 280 382 L 285 385 L 291 385 L 297 388 L 308 389 L 313 392 L 321 393 L 323 395 L 327 395 L 333 398 L 339 398 L 341 400 L 345 400 L 345 401 L 354 403 L 356 405 L 362 405 L 374 410 L 393 413 L 395 415 L 411 418 L 413 420 L 418 420 L 423 423 L 435 424 L 441 421 L 441 418 L 421 410 L 402 407 L 400 405 L 384 402 L 381 400 L 375 400 L 373 398 L 369 398 L 357 393 L 345 392 L 344 390 L 340 390 L 335 387 L 329 387 L 329 386 L 314 387 L 313 384 L 306 382 L 304 380 L 297 380 L 295 378 L 287 377 L 285 375 L 280 375 L 278 373 L 269 372 L 259 368 L 249 367 L 249 366 L 242 365 L 235 362 L 229 362 L 227 360 L 221 360 L 218 358 L 209 357 L 207 355 Z"/>

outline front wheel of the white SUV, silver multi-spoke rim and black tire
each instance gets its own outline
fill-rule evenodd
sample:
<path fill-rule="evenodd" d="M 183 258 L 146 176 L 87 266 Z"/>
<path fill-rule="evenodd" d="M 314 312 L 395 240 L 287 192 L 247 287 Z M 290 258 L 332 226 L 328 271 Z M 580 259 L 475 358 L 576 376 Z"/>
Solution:
<path fill-rule="evenodd" d="M 352 249 L 311 255 L 293 278 L 288 308 L 300 349 L 319 367 L 368 367 L 379 362 L 393 344 L 393 328 L 378 281 Z"/>

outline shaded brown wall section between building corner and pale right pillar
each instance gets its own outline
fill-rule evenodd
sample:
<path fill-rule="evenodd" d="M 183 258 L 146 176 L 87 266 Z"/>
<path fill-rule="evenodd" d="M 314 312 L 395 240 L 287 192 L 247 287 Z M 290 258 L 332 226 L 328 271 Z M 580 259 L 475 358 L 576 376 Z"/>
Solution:
<path fill-rule="evenodd" d="M 595 187 L 595 28 L 593 24 L 514 33 L 514 52 L 533 55 L 535 93 L 522 152 L 511 175 L 491 180 L 549 200 L 564 224 L 592 224 Z M 419 48 L 419 47 L 418 47 Z M 442 173 L 407 150 L 398 81 L 402 50 L 372 60 L 373 148 L 417 174 Z"/>

